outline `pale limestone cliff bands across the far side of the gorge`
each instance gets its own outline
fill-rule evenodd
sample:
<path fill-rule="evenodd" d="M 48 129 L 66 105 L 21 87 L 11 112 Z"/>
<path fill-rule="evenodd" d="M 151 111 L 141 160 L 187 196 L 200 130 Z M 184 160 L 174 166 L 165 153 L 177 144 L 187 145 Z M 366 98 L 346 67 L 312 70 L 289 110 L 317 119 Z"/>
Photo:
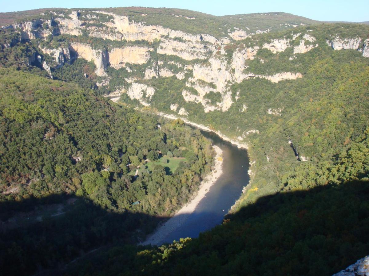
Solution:
<path fill-rule="evenodd" d="M 289 54 L 289 60 L 294 60 L 299 55 L 319 47 L 317 39 L 311 32 L 313 30 L 297 28 L 298 25 L 293 25 L 297 31 L 293 30 L 292 33 L 279 38 L 272 36 L 271 39 L 261 39 L 263 41 L 261 42 L 254 39 L 254 35 L 269 32 L 270 29 L 251 32 L 247 27 L 243 29 L 234 27 L 228 29 L 227 33 L 224 32 L 223 38 L 215 38 L 206 33 L 188 33 L 160 25 L 136 22 L 128 16 L 106 11 L 75 10 L 69 15 L 64 13 L 52 15 L 51 20 L 18 22 L 4 28 L 20 30 L 23 39 L 42 40 L 59 33 L 66 37 L 77 35 L 79 38 L 77 41 L 85 40 L 85 42 L 69 42 L 69 46 L 41 48 L 45 55 L 55 60 L 55 66 L 40 63 L 49 75 L 52 76 L 51 66 L 60 68 L 70 60 L 83 58 L 93 61 L 97 76 L 103 77 L 97 85 L 109 86 L 111 77 L 106 72 L 107 67 L 110 66 L 115 70 L 125 68 L 128 77 L 114 81 L 121 84 L 113 91 L 121 91 L 122 85 L 132 83 L 127 94 L 131 99 L 138 99 L 143 105 L 150 104 L 151 96 L 147 95 L 153 95 L 154 92 L 139 84 L 142 79 L 175 76 L 183 82 L 180 91 L 183 102 L 201 103 L 204 112 L 214 110 L 225 112 L 238 100 L 238 94 L 232 97 L 233 84 L 253 78 L 263 78 L 277 83 L 303 77 L 299 72 L 288 71 L 273 74 L 253 73 L 249 70 L 250 61 L 264 63 L 264 59 L 258 55 L 260 50 L 263 49 L 264 53 L 265 50 L 269 50 L 275 56 Z M 187 17 L 186 19 L 190 20 Z M 88 39 L 89 37 L 95 40 Z M 251 42 L 244 42 L 245 38 Z M 98 45 L 92 42 L 109 39 L 115 42 Z M 334 50 L 355 49 L 361 51 L 364 57 L 369 57 L 369 39 L 340 38 L 336 35 L 327 39 L 326 43 Z M 212 97 L 215 98 L 210 100 Z M 173 100 L 171 106 L 177 105 L 177 101 L 178 99 Z M 177 106 L 176 111 L 179 107 Z M 181 113 L 187 114 L 187 111 L 182 110 Z"/>

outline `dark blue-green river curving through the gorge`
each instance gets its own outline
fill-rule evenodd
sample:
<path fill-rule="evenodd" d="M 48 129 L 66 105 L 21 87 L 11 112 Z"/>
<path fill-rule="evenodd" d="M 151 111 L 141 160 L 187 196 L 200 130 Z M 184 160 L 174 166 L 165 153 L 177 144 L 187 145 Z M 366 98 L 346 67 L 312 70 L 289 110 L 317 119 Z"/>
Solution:
<path fill-rule="evenodd" d="M 196 128 L 191 126 L 192 128 Z M 201 130 L 201 134 L 223 151 L 223 174 L 210 187 L 196 209 L 163 243 L 172 243 L 182 237 L 196 238 L 223 221 L 224 215 L 241 196 L 242 188 L 249 183 L 249 158 L 246 149 L 237 148 L 214 132 Z"/>

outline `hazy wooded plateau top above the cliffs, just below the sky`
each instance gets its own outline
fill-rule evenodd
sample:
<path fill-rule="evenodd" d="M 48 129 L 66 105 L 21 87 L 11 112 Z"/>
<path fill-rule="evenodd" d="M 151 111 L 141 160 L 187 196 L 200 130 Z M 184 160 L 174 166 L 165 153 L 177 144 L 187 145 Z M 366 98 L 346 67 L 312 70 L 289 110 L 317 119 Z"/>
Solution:
<path fill-rule="evenodd" d="M 197 11 L 177 8 L 145 8 L 145 7 L 118 7 L 118 8 L 75 8 L 83 11 L 106 11 L 117 15 L 124 15 L 130 21 L 144 21 L 146 25 L 161 25 L 165 28 L 180 30 L 189 33 L 206 33 L 221 38 L 228 29 L 245 29 L 251 32 L 257 30 L 273 31 L 291 28 L 291 25 L 313 24 L 319 21 L 288 13 L 255 13 L 214 16 Z M 0 14 L 0 25 L 12 24 L 14 21 L 50 18 L 50 11 L 70 14 L 73 10 L 62 8 L 38 9 Z M 44 15 L 40 16 L 40 13 Z"/>

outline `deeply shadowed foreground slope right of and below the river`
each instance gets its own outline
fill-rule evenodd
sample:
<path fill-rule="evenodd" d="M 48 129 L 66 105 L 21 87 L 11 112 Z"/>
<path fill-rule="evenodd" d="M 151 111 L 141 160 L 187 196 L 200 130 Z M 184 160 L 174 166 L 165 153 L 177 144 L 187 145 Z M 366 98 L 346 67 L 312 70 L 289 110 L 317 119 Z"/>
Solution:
<path fill-rule="evenodd" d="M 332 275 L 369 254 L 369 182 L 266 196 L 184 248 L 177 245 L 169 245 L 172 252 L 117 245 L 69 273 Z"/>

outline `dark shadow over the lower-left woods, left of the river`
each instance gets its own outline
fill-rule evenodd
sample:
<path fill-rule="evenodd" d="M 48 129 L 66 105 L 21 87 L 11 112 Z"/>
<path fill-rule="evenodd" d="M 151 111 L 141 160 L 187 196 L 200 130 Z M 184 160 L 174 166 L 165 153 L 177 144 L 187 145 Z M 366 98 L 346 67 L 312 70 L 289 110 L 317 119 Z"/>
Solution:
<path fill-rule="evenodd" d="M 163 218 L 134 212 L 134 206 L 114 213 L 66 195 L 1 202 L 0 274 L 54 274 L 97 248 L 136 244 Z"/>

